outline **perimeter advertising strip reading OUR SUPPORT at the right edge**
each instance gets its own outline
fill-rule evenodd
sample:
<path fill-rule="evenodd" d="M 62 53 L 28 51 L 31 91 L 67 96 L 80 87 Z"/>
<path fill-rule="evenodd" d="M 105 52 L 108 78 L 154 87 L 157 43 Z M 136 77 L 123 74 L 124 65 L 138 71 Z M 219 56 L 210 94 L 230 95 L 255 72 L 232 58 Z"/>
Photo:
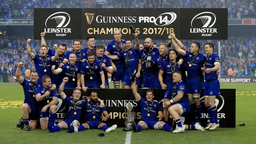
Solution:
<path fill-rule="evenodd" d="M 250 76 L 243 76 L 243 77 L 237 77 L 237 76 L 222 76 L 220 82 L 256 82 L 256 77 L 250 77 Z"/>

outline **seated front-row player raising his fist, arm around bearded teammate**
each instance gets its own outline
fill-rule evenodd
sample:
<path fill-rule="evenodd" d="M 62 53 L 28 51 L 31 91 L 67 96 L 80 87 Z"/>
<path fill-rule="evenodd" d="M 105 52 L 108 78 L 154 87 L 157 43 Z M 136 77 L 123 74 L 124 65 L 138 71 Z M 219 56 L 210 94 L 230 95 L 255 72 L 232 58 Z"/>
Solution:
<path fill-rule="evenodd" d="M 79 99 L 81 97 L 81 91 L 80 89 L 74 89 L 73 90 L 73 99 L 66 96 L 66 94 L 63 92 L 65 84 L 68 82 L 68 77 L 63 78 L 63 82 L 61 83 L 59 87 L 59 95 L 60 98 L 64 100 L 66 103 L 66 107 L 68 108 L 68 111 L 65 115 L 65 120 L 58 123 L 56 126 L 52 126 L 51 123 L 48 124 L 48 129 L 50 132 L 56 132 L 60 131 L 61 129 L 69 129 L 70 126 L 76 127 L 80 125 L 79 120 L 81 116 L 81 112 L 83 107 L 91 100 L 91 99 Z M 101 107 L 104 107 L 104 103 L 102 100 L 98 99 L 101 103 Z M 77 132 L 77 129 L 76 131 Z"/>

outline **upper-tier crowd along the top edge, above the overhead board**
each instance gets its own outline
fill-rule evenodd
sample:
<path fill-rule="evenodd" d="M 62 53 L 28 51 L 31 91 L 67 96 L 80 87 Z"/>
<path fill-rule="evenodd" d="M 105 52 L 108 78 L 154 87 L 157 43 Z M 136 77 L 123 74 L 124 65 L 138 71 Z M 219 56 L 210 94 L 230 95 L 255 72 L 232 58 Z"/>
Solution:
<path fill-rule="evenodd" d="M 256 17 L 255 0 L 0 0 L 3 19 L 33 19 L 33 8 L 228 8 L 229 18 Z"/>

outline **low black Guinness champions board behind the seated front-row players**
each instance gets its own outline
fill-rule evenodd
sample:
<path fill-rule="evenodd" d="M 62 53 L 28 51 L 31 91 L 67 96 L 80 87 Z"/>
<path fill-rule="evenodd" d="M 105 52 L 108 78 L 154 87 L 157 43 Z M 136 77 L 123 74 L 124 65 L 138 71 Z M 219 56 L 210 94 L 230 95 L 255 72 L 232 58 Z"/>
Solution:
<path fill-rule="evenodd" d="M 91 89 L 89 91 L 83 92 L 82 96 L 89 96 Z M 117 124 L 118 127 L 125 127 L 124 124 L 124 107 L 128 102 L 131 102 L 134 106 L 134 116 L 135 122 L 138 123 L 141 119 L 141 112 L 139 103 L 135 100 L 135 97 L 131 89 L 94 89 L 98 93 L 98 97 L 104 100 L 106 109 L 109 113 L 110 118 L 106 121 L 108 126 Z M 147 89 L 138 89 L 138 93 L 145 98 Z M 163 95 L 164 91 L 162 89 L 154 90 L 154 100 L 160 103 L 162 110 L 164 107 Z M 71 96 L 73 89 L 64 89 L 67 96 Z M 235 89 L 221 89 L 221 96 L 217 96 L 215 100 L 215 105 L 218 108 L 218 120 L 220 122 L 220 127 L 234 128 L 235 118 L 236 118 L 236 101 L 235 101 Z M 201 92 L 200 102 L 202 105 L 201 114 L 201 124 L 206 126 L 209 123 L 209 117 L 204 106 L 204 96 L 203 90 Z M 65 117 L 65 104 L 62 100 L 58 101 L 57 119 L 59 122 Z M 189 119 L 189 117 L 186 119 Z M 86 122 L 85 109 L 82 112 L 80 123 Z"/>

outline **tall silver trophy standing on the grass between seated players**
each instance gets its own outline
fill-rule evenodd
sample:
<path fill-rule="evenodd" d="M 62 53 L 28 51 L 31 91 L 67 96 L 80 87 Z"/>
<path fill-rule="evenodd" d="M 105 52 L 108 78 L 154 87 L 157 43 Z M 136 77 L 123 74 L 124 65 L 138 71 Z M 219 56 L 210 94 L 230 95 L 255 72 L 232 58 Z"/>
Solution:
<path fill-rule="evenodd" d="M 131 131 L 132 130 L 132 123 L 134 123 L 134 112 L 133 112 L 132 103 L 130 103 L 130 102 L 127 103 L 124 110 L 125 110 L 124 124 L 126 126 L 126 128 L 124 128 L 124 131 Z"/>

